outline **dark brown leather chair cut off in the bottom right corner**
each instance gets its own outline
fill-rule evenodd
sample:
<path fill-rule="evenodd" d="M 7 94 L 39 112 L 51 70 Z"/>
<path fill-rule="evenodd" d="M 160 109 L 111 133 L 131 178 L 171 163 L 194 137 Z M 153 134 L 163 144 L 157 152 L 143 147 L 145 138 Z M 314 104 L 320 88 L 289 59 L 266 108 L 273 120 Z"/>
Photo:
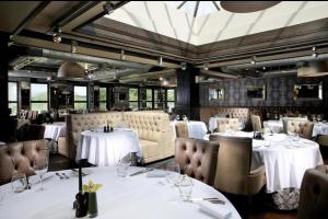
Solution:
<path fill-rule="evenodd" d="M 328 172 L 306 170 L 300 193 L 298 219 L 328 218 Z"/>

